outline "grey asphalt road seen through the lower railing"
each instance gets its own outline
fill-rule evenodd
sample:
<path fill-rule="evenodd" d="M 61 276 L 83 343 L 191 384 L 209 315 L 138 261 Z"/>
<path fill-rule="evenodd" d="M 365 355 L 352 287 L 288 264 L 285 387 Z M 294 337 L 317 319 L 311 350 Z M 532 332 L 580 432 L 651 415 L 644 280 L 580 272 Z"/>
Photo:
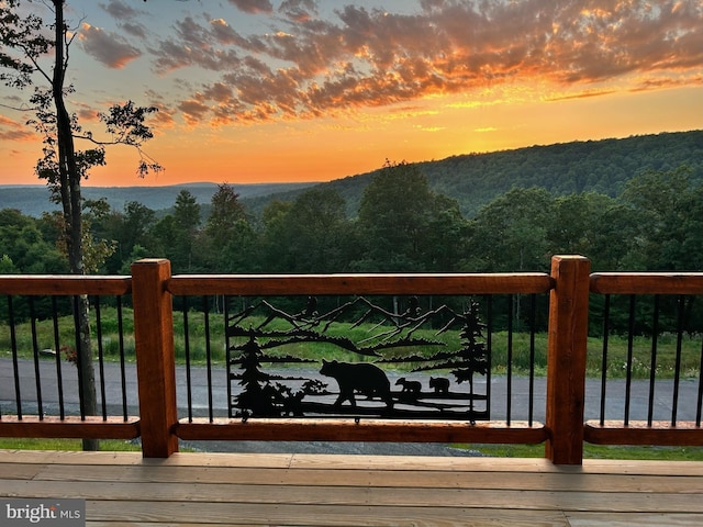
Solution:
<path fill-rule="evenodd" d="M 108 362 L 102 372 L 96 365 L 96 377 L 101 374 L 104 379 L 104 400 L 110 415 L 122 415 L 123 390 L 122 375 L 119 363 Z M 0 411 L 2 414 L 16 414 L 14 369 L 10 358 L 0 358 Z M 316 375 L 316 370 L 303 370 L 306 375 Z M 290 374 L 291 370 L 287 370 Z M 78 413 L 78 388 L 75 367 L 64 362 L 62 365 L 64 386 L 64 404 L 67 413 Z M 208 382 L 210 377 L 211 381 Z M 394 384 L 400 374 L 389 373 L 391 384 Z M 410 377 L 410 375 L 409 375 Z M 37 411 L 37 393 L 41 393 L 43 411 L 46 415 L 58 415 L 58 383 L 56 362 L 51 358 L 40 361 L 40 379 L 36 382 L 35 366 L 32 360 L 19 361 L 20 395 L 22 411 L 26 414 L 35 414 Z M 336 390 L 336 383 L 332 378 L 322 378 Z M 209 415 L 209 401 L 212 401 L 213 414 L 226 416 L 227 386 L 226 373 L 223 366 L 213 367 L 211 374 L 202 367 L 192 368 L 190 372 L 192 414 L 196 416 Z M 179 417 L 188 416 L 188 375 L 185 367 L 177 367 L 177 403 Z M 124 397 L 126 397 L 127 414 L 138 414 L 136 367 L 133 363 L 125 365 Z M 545 393 L 546 379 L 534 380 L 534 410 L 533 419 L 545 421 Z M 589 379 L 585 393 L 585 418 L 596 419 L 601 405 L 600 381 Z M 102 392 L 98 383 L 98 397 L 102 401 Z M 486 393 L 486 380 L 477 378 L 475 381 L 476 393 Z M 670 421 L 674 405 L 674 383 L 672 380 L 658 380 L 655 385 L 654 418 L 655 421 Z M 698 380 L 685 379 L 680 381 L 679 394 L 676 401 L 677 416 L 679 421 L 694 421 L 698 407 Z M 510 397 L 509 397 L 510 392 Z M 610 380 L 606 388 L 605 418 L 623 419 L 625 412 L 625 380 Z M 491 378 L 491 419 L 505 421 L 510 401 L 511 419 L 528 419 L 529 379 L 515 377 L 509 384 L 507 379 L 501 375 Z M 649 381 L 636 380 L 631 386 L 629 418 L 633 421 L 646 419 L 649 405 Z M 442 455 L 467 456 L 471 452 L 457 450 L 445 445 L 427 444 L 346 444 L 346 442 L 286 442 L 274 441 L 261 444 L 258 441 L 227 441 L 207 442 L 192 445 L 196 448 L 209 451 L 281 451 L 281 452 L 339 452 L 339 453 L 403 453 L 403 455 Z"/>

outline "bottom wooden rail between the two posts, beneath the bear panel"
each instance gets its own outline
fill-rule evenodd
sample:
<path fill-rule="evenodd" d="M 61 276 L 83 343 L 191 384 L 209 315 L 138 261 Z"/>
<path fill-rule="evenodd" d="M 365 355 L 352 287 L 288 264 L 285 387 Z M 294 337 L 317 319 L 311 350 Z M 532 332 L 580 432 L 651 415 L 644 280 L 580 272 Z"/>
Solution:
<path fill-rule="evenodd" d="M 486 442 L 537 445 L 547 440 L 542 423 L 330 419 L 181 421 L 176 435 L 185 440 Z"/>

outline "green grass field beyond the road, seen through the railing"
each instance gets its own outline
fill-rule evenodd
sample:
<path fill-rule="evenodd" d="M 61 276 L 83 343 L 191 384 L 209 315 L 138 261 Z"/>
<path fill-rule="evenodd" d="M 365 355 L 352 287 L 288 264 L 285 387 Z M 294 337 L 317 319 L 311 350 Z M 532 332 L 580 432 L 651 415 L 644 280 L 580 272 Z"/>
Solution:
<path fill-rule="evenodd" d="M 133 336 L 133 313 L 131 310 L 123 310 L 123 345 L 127 360 L 134 360 L 134 336 Z M 103 354 L 107 360 L 116 360 L 120 352 L 120 335 L 118 333 L 116 310 L 104 307 L 101 313 L 101 332 Z M 175 313 L 174 335 L 176 360 L 180 363 L 186 360 L 186 349 L 190 350 L 190 360 L 192 363 L 203 363 L 207 359 L 207 340 L 204 335 L 204 315 L 201 312 L 188 313 L 189 336 L 186 341 L 183 330 L 183 316 L 181 313 Z M 254 319 L 254 324 L 260 323 L 263 319 Z M 277 326 L 278 324 L 278 326 Z M 210 325 L 210 358 L 215 365 L 225 362 L 225 329 L 222 315 L 212 314 L 209 318 Z M 72 333 L 72 318 L 63 317 L 59 319 L 59 343 L 70 346 L 75 343 Z M 272 323 L 271 328 L 284 328 L 284 323 Z M 330 335 L 349 336 L 353 339 L 362 339 L 372 330 L 372 324 L 362 324 L 355 328 L 349 328 L 348 324 L 333 324 L 330 327 Z M 15 326 L 15 339 L 19 355 L 22 357 L 32 357 L 33 340 L 31 333 L 31 324 L 18 324 Z M 37 347 L 38 349 L 53 349 L 54 345 L 54 326 L 51 321 L 40 321 L 36 323 Z M 93 324 L 92 335 L 97 335 L 97 328 Z M 419 330 L 416 336 L 428 339 L 437 339 L 433 330 Z M 458 332 L 447 332 L 440 338 L 446 343 L 446 349 L 457 349 L 461 343 Z M 509 335 L 505 332 L 496 332 L 492 337 L 492 357 L 491 363 L 493 372 L 504 373 L 507 369 L 509 354 Z M 681 375 L 683 378 L 696 378 L 701 363 L 701 337 L 684 336 L 681 346 Z M 633 360 L 632 374 L 635 379 L 648 378 L 652 368 L 651 363 L 651 338 L 637 336 L 633 340 Z M 676 336 L 665 334 L 657 338 L 657 362 L 654 365 L 658 379 L 672 378 L 674 375 L 674 367 L 677 361 L 677 341 Z M 400 352 L 411 355 L 432 355 L 439 349 L 438 346 L 423 348 L 402 348 Z M 11 350 L 11 333 L 8 325 L 0 324 L 0 356 L 10 356 Z M 299 343 L 290 344 L 278 349 L 279 354 L 292 355 L 301 358 L 313 360 L 338 359 L 338 360 L 359 360 L 359 358 L 349 351 L 345 351 L 332 344 L 314 344 Z M 611 379 L 624 378 L 627 373 L 627 355 L 628 341 L 625 337 L 612 335 L 609 338 L 609 361 L 607 375 Z M 534 354 L 535 371 L 538 375 L 544 375 L 547 368 L 547 334 L 540 333 L 535 336 L 535 354 Z M 514 374 L 524 374 L 529 371 L 531 350 L 529 335 L 525 333 L 515 333 L 512 338 L 512 370 Z M 602 366 L 602 338 L 589 337 L 588 340 L 588 362 L 587 374 L 589 377 L 599 377 Z M 412 363 L 394 365 L 398 369 L 410 369 Z"/>

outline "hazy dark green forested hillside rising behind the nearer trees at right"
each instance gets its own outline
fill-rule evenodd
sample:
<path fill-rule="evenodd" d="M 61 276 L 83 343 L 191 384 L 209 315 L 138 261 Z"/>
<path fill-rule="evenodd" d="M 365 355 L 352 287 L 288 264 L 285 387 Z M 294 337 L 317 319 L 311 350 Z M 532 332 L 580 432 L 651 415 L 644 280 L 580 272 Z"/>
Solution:
<path fill-rule="evenodd" d="M 703 180 L 703 131 L 468 154 L 420 162 L 417 167 L 433 191 L 454 198 L 461 213 L 473 217 L 482 205 L 513 187 L 540 187 L 559 195 L 595 191 L 615 197 L 622 192 L 625 181 L 644 170 L 671 170 L 683 165 L 691 168 L 694 180 Z M 347 213 L 354 216 L 373 173 L 338 179 L 322 187 L 339 193 L 346 201 Z M 290 201 L 300 192 L 243 202 L 260 213 L 272 198 Z"/>

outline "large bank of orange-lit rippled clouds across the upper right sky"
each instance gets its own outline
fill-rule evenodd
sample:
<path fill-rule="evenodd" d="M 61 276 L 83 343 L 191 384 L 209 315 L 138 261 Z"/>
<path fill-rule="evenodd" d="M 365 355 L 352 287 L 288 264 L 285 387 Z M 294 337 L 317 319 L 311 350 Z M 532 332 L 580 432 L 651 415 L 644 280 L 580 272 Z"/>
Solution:
<path fill-rule="evenodd" d="M 267 33 L 242 35 L 224 19 L 187 16 L 149 52 L 161 75 L 220 74 L 181 103 L 186 120 L 219 124 L 310 119 L 354 109 L 467 93 L 509 83 L 549 83 L 595 97 L 690 82 L 703 65 L 698 0 L 421 0 L 412 14 L 345 5 L 322 19 L 312 0 L 231 0 L 270 15 Z M 633 85 L 656 75 L 657 83 Z M 197 111 L 192 101 L 197 100 Z"/>

